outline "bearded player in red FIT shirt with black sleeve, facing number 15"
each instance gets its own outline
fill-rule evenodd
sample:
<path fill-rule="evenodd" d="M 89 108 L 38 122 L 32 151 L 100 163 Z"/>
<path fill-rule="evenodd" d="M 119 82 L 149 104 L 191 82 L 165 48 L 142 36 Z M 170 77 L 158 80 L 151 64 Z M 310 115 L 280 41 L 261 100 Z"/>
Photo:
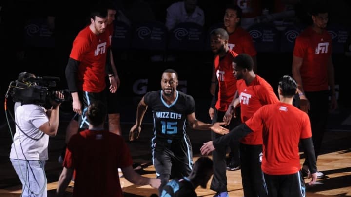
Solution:
<path fill-rule="evenodd" d="M 232 61 L 237 54 L 228 47 L 228 33 L 223 28 L 215 29 L 211 32 L 211 49 L 215 54 L 214 66 L 212 72 L 211 93 L 214 97 L 209 109 L 209 115 L 212 123 L 222 122 L 225 112 L 229 104 L 234 98 L 236 92 L 236 79 L 233 76 Z M 216 86 L 216 81 L 218 86 Z M 218 92 L 215 93 L 215 88 Z M 233 119 L 229 128 L 239 124 L 239 119 Z M 219 134 L 211 133 L 211 138 L 216 139 Z M 238 147 L 231 147 L 233 150 L 238 150 Z M 239 161 L 238 151 L 235 151 L 235 160 Z M 214 177 L 211 182 L 211 189 L 217 192 L 217 195 L 227 194 L 227 176 L 226 176 L 226 154 L 227 147 L 218 149 L 213 152 L 214 160 Z M 239 169 L 239 166 L 237 167 Z M 223 194 L 221 194 L 223 193 Z"/>

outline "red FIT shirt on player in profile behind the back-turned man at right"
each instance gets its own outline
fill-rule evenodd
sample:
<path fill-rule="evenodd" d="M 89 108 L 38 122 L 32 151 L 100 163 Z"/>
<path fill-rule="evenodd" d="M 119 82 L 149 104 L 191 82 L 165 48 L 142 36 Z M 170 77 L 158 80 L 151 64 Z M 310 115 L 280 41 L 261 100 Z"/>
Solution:
<path fill-rule="evenodd" d="M 243 123 L 251 118 L 260 107 L 279 102 L 272 86 L 257 74 L 249 85 L 246 85 L 243 79 L 238 80 L 236 88 L 240 99 L 241 121 Z M 250 145 L 262 144 L 262 135 L 253 132 L 242 138 L 240 142 Z"/>

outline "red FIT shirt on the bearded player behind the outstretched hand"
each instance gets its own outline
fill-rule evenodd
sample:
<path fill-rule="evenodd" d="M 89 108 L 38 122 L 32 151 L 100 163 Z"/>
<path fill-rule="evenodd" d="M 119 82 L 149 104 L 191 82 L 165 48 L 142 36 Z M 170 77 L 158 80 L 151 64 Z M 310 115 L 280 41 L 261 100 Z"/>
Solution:
<path fill-rule="evenodd" d="M 222 58 L 220 58 L 219 55 L 215 56 L 214 66 L 219 88 L 218 100 L 215 104 L 215 108 L 218 111 L 227 111 L 236 92 L 236 78 L 233 75 L 232 66 L 235 56 L 237 56 L 237 54 L 230 49 Z"/>

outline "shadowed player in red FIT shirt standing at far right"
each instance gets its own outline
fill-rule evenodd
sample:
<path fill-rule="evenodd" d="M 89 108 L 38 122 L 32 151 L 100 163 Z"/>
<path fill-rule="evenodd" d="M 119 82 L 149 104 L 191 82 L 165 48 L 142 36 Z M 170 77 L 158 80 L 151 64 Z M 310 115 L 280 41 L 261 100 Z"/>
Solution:
<path fill-rule="evenodd" d="M 292 76 L 298 84 L 300 109 L 308 113 L 311 120 L 314 151 L 317 158 L 326 129 L 329 109 L 335 109 L 337 103 L 334 66 L 331 60 L 331 35 L 325 30 L 328 11 L 322 4 L 318 4 L 311 13 L 312 26 L 301 32 L 295 40 Z M 331 96 L 330 103 L 329 96 Z M 307 174 L 306 163 L 302 169 Z M 318 177 L 322 176 L 323 173 L 318 172 Z"/>

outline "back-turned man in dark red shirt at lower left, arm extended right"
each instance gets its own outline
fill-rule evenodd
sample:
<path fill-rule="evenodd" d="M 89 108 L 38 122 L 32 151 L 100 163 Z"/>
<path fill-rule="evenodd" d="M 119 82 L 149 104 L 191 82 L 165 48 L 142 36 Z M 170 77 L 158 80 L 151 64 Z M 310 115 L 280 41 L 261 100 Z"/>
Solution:
<path fill-rule="evenodd" d="M 134 184 L 160 186 L 160 179 L 142 177 L 133 170 L 132 157 L 124 139 L 104 129 L 106 113 L 102 101 L 89 105 L 86 112 L 89 129 L 72 136 L 67 145 L 58 196 L 64 194 L 74 170 L 73 197 L 123 197 L 118 168 Z"/>

